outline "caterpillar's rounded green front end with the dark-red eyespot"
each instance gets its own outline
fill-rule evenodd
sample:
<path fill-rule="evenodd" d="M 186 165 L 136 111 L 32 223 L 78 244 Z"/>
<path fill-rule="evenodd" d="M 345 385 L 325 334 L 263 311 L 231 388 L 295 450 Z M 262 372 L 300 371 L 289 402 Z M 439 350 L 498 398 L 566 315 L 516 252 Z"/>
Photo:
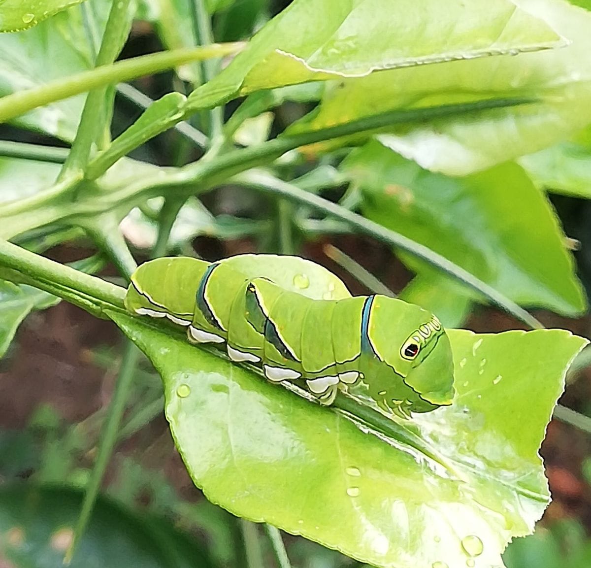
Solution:
<path fill-rule="evenodd" d="M 421 400 L 430 403 L 426 407 L 452 403 L 452 347 L 436 316 L 413 304 L 376 296 L 368 337 L 378 358 L 418 395 L 409 397 L 418 398 L 411 410 L 421 411 Z"/>

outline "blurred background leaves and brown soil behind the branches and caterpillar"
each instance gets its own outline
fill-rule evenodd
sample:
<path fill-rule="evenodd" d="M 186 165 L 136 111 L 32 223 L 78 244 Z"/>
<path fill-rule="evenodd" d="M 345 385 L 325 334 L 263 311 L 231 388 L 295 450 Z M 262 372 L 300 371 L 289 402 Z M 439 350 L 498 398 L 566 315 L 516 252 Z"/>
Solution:
<path fill-rule="evenodd" d="M 215 40 L 225 42 L 248 39 L 290 2 L 209 0 L 206 4 Z M 573 4 L 589 8 L 589 2 Z M 70 8 L 67 18 L 60 13 L 31 28 L 25 39 L 18 33 L 2 35 L 0 93 L 92 68 L 108 13 L 104 8 L 105 2 L 91 0 Z M 89 30 L 94 45 L 86 41 Z M 144 0 L 121 59 L 193 44 L 189 2 Z M 146 102 L 141 93 L 151 99 L 171 90 L 189 94 L 200 73 L 199 65 L 188 64 L 177 73 L 136 80 L 133 87 L 139 92 L 120 85 L 113 136 L 141 114 Z M 322 113 L 309 115 L 321 95 L 314 83 L 264 91 L 248 104 L 240 106 L 244 99 L 228 103 L 225 118 L 232 117 L 228 128 L 235 142 L 249 146 L 304 117 L 304 124 L 322 120 Z M 79 95 L 3 124 L 0 137 L 66 148 L 76 133 L 84 100 Z M 207 120 L 197 114 L 192 124 L 206 130 Z M 423 169 L 375 141 L 352 152 L 334 148 L 321 154 L 311 148 L 308 154 L 288 154 L 275 164 L 275 173 L 423 242 L 518 303 L 534 306 L 546 326 L 590 337 L 591 320 L 584 315 L 584 296 L 591 290 L 590 133 L 587 128 L 569 141 L 519 158 L 519 165 L 504 163 L 463 177 Z M 182 132 L 169 129 L 130 157 L 180 166 L 200 155 L 202 151 Z M 61 157 L 56 156 L 56 163 L 0 157 L 0 203 L 49 186 L 59 173 Z M 147 258 L 155 244 L 161 207 L 160 198 L 148 200 L 122 222 L 138 259 Z M 447 216 L 442 218 L 444 209 Z M 62 262 L 95 252 L 76 229 L 25 233 L 18 241 Z M 574 267 L 567 249 L 576 261 Z M 208 260 L 251 251 L 301 254 L 335 271 L 353 294 L 385 287 L 436 311 L 448 326 L 477 332 L 524 327 L 483 306 L 482 298 L 423 262 L 403 253 L 394 257 L 391 246 L 355 235 L 339 220 L 233 184 L 187 200 L 168 241 L 168 252 Z M 102 274 L 121 283 L 111 265 Z M 72 540 L 81 489 L 96 456 L 121 361 L 121 339 L 111 324 L 70 304 L 37 311 L 55 303 L 46 294 L 30 290 L 15 298 L 12 288 L 0 287 L 2 298 L 22 314 L 17 325 L 29 311 L 33 313 L 10 346 L 14 329 L 0 329 L 0 349 L 8 349 L 0 361 L 0 566 L 60 566 Z M 567 410 L 578 414 L 557 412 L 559 419 L 550 424 L 541 450 L 554 501 L 537 532 L 508 547 L 504 557 L 508 568 L 591 566 L 589 363 L 585 351 L 567 377 L 561 400 Z M 258 525 L 210 504 L 194 488 L 163 417 L 160 377 L 145 359 L 134 374 L 131 393 L 103 495 L 72 566 L 126 562 L 138 567 L 222 568 L 246 565 L 245 559 L 251 561 L 249 566 L 272 565 L 271 548 Z M 359 564 L 303 538 L 285 535 L 285 541 L 294 566 Z"/>

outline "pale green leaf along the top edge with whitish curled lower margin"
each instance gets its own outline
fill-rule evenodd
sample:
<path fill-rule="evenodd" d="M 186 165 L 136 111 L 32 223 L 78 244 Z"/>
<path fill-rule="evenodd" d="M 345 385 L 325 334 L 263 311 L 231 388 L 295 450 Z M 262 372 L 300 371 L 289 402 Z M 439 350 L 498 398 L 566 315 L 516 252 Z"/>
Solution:
<path fill-rule="evenodd" d="M 311 80 L 544 49 L 559 40 L 551 25 L 508 0 L 426 0 L 421 9 L 413 0 L 296 0 L 191 93 L 189 108 Z"/>

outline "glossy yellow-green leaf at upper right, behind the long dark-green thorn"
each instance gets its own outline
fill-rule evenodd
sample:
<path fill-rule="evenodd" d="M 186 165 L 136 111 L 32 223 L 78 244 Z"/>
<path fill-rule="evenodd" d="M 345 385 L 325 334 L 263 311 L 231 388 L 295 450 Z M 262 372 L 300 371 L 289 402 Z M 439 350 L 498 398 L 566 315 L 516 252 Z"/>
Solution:
<path fill-rule="evenodd" d="M 531 105 L 487 111 L 478 118 L 439 119 L 379 135 L 423 167 L 466 174 L 540 150 L 591 122 L 591 14 L 563 0 L 516 0 L 570 41 L 564 48 L 375 73 L 327 91 L 320 111 L 299 129 L 398 108 L 504 96 L 540 98 Z M 444 5 L 442 4 L 442 7 Z M 346 109 L 343 111 L 343 109 Z"/>

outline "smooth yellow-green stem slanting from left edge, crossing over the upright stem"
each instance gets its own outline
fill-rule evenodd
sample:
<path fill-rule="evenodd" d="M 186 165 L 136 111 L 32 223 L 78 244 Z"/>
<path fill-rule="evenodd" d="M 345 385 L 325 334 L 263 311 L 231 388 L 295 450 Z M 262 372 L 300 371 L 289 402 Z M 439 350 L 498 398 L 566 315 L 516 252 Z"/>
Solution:
<path fill-rule="evenodd" d="M 143 75 L 160 73 L 190 61 L 210 57 L 223 57 L 241 50 L 244 44 L 215 44 L 207 47 L 178 49 L 152 53 L 132 59 L 118 61 L 111 65 L 78 73 L 66 79 L 46 83 L 34 89 L 12 93 L 0 99 L 0 122 L 7 122 L 38 106 L 48 105 L 56 100 L 67 99 L 104 85 L 129 81 Z"/>

